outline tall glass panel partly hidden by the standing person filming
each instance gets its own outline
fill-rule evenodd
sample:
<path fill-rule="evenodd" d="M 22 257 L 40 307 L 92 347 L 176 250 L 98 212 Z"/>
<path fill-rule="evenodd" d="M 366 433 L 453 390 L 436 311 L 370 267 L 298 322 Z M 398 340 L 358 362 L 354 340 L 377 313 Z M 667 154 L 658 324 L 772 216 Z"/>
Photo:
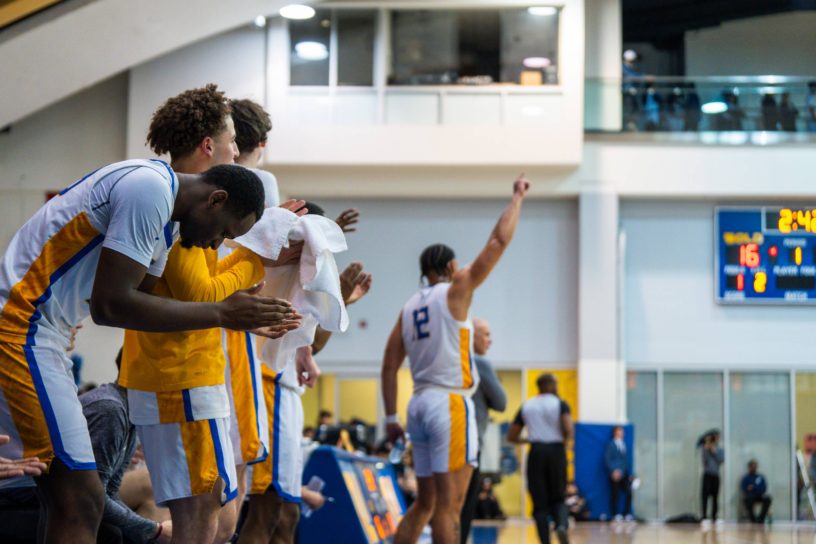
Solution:
<path fill-rule="evenodd" d="M 697 443 L 706 431 L 722 430 L 722 418 L 722 374 L 666 372 L 663 375 L 661 493 L 665 517 L 701 514 L 702 453 Z M 725 447 L 722 440 L 720 446 Z M 721 484 L 720 512 L 724 513 L 722 497 Z"/>

